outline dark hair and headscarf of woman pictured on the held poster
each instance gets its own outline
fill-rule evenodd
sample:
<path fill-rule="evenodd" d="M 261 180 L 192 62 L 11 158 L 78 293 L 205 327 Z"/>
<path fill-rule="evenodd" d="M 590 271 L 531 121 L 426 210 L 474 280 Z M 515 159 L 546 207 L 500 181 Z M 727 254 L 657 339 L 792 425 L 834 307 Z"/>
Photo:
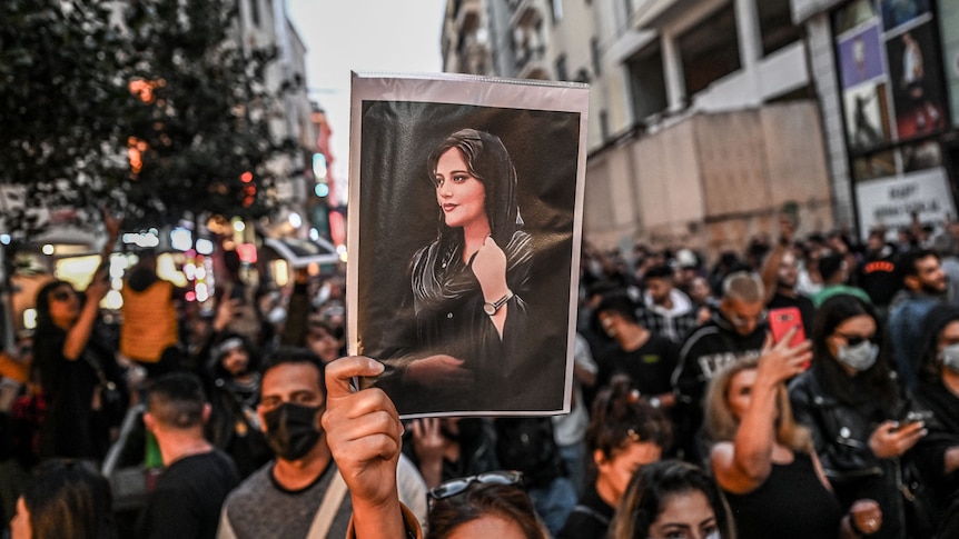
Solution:
<path fill-rule="evenodd" d="M 483 183 L 486 192 L 485 210 L 490 220 L 490 233 L 501 247 L 505 247 L 513 238 L 513 232 L 523 226 L 520 216 L 520 204 L 516 200 L 516 169 L 513 160 L 495 134 L 476 129 L 461 129 L 447 137 L 426 159 L 429 180 L 435 184 L 436 163 L 447 150 L 456 149 L 463 156 L 463 161 L 469 173 Z M 459 229 L 446 227 L 443 214 L 439 216 L 439 243 L 446 246 L 449 241 L 462 237 Z"/>

